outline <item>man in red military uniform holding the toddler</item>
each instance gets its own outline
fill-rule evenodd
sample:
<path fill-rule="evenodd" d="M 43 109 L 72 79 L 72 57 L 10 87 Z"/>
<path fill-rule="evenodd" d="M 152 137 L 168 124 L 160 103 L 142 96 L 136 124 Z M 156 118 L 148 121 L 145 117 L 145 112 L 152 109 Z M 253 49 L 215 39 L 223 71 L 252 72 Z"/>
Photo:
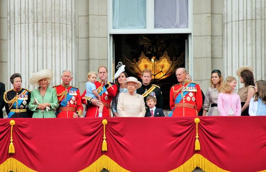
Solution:
<path fill-rule="evenodd" d="M 114 83 L 107 81 L 107 68 L 105 66 L 100 66 L 98 68 L 98 76 L 100 81 L 95 83 L 98 94 L 101 96 L 101 102 L 104 105 L 103 117 L 111 116 L 111 101 L 113 97 L 117 95 L 118 87 Z M 92 99 L 91 97 L 86 97 L 86 90 L 82 94 L 82 103 L 89 105 L 85 117 L 96 117 L 98 116 L 98 107 L 100 100 Z M 99 116 L 101 117 L 101 116 Z"/>

